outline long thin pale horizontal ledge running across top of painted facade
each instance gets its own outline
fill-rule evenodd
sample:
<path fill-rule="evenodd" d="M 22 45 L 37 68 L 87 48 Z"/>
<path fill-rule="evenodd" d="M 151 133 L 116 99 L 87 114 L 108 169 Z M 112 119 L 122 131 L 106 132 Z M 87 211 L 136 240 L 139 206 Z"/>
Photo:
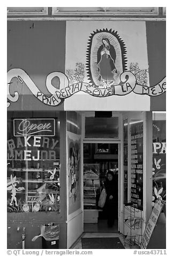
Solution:
<path fill-rule="evenodd" d="M 143 22 L 143 21 L 156 21 L 156 22 L 165 22 L 166 21 L 166 18 L 96 18 L 96 17 L 79 17 L 79 18 L 72 18 L 72 17 L 40 17 L 40 18 L 37 18 L 37 17 L 27 17 L 27 18 L 24 18 L 24 17 L 20 17 L 20 18 L 10 18 L 8 17 L 7 18 L 7 21 L 28 21 L 28 20 L 35 20 L 35 21 L 48 21 L 48 20 L 51 20 L 51 21 L 58 21 L 58 20 L 66 20 L 66 21 L 104 21 L 104 22 L 116 22 L 116 21 L 125 21 L 125 22 Z"/>

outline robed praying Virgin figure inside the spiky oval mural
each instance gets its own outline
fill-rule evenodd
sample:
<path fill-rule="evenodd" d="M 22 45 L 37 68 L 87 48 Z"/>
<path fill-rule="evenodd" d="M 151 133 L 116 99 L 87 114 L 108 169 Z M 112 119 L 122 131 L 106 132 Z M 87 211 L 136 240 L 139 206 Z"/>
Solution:
<path fill-rule="evenodd" d="M 102 45 L 97 51 L 97 67 L 99 69 L 99 81 L 114 81 L 117 73 L 115 66 L 116 51 L 108 38 L 102 39 Z"/>

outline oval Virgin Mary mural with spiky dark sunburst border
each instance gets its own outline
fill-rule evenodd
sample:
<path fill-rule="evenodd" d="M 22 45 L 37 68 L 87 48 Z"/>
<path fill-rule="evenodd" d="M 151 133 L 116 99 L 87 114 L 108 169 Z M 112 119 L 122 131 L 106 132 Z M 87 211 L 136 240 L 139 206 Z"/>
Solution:
<path fill-rule="evenodd" d="M 117 31 L 96 30 L 91 33 L 87 47 L 86 70 L 88 82 L 95 88 L 109 88 L 121 82 L 126 70 L 126 47 Z"/>

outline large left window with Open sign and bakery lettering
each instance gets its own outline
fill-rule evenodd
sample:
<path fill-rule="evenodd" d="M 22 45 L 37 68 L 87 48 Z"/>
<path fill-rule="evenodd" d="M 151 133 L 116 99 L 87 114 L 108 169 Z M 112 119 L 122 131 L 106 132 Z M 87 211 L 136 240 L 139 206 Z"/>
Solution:
<path fill-rule="evenodd" d="M 20 117 L 19 117 L 20 116 Z M 7 211 L 59 213 L 58 114 L 7 113 Z"/>

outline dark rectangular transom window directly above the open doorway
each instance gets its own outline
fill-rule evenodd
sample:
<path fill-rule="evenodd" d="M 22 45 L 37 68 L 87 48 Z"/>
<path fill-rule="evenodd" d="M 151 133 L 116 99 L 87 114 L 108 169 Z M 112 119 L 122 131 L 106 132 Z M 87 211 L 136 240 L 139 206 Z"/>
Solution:
<path fill-rule="evenodd" d="M 85 138 L 118 138 L 118 117 L 86 117 Z"/>

